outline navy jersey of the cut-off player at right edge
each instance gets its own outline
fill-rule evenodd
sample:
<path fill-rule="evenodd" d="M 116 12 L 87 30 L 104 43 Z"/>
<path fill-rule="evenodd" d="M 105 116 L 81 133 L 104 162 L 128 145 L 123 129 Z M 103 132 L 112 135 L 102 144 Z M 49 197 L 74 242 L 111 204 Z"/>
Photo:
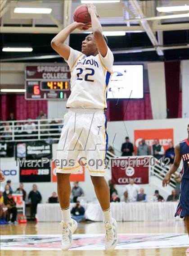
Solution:
<path fill-rule="evenodd" d="M 183 160 L 182 178 L 189 179 L 189 142 L 187 139 L 180 142 L 180 155 Z"/>

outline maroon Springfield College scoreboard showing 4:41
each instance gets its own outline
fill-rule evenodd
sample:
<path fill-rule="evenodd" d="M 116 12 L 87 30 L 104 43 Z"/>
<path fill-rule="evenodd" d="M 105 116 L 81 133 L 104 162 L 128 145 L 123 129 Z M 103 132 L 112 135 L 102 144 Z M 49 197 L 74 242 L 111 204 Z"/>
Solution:
<path fill-rule="evenodd" d="M 26 100 L 67 100 L 70 95 L 70 70 L 67 65 L 25 67 Z"/>

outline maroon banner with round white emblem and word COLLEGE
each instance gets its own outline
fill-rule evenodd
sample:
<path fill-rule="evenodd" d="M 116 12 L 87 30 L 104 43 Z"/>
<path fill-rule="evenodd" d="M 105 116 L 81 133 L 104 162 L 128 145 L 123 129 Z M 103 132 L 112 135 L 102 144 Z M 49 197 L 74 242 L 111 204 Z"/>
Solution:
<path fill-rule="evenodd" d="M 149 183 L 149 157 L 125 157 L 112 160 L 112 183 L 129 184 L 134 178 L 136 184 Z"/>

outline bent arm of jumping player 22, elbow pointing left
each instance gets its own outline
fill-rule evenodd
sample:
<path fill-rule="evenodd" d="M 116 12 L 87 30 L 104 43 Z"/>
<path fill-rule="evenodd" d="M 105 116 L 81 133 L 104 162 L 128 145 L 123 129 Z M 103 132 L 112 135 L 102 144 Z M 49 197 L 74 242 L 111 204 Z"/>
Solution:
<path fill-rule="evenodd" d="M 60 31 L 51 41 L 52 48 L 64 59 L 68 59 L 70 55 L 70 46 L 64 44 L 64 41 L 76 28 L 80 30 L 87 30 L 89 27 L 85 23 L 78 23 L 74 21 L 72 24 Z"/>

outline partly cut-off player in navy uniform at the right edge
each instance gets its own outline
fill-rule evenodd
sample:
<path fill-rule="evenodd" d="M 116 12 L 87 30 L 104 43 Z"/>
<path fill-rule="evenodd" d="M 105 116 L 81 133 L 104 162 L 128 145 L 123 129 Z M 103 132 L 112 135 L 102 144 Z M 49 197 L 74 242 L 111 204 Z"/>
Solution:
<path fill-rule="evenodd" d="M 180 183 L 179 205 L 175 216 L 184 218 L 187 232 L 189 234 L 189 124 L 187 127 L 188 138 L 175 146 L 175 160 L 170 170 L 163 179 L 163 187 L 170 183 L 171 174 L 174 174 L 179 168 L 181 159 L 183 160 L 183 172 Z M 189 249 L 186 251 L 189 252 Z"/>

